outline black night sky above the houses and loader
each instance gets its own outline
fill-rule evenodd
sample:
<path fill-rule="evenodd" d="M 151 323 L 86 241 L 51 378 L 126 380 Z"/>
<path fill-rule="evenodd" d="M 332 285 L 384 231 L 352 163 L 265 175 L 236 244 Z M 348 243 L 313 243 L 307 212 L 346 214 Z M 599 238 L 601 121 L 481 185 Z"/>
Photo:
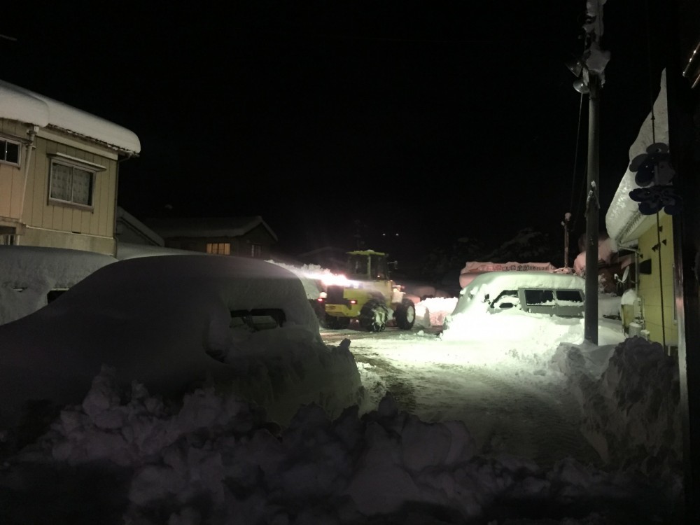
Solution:
<path fill-rule="evenodd" d="M 605 4 L 603 227 L 665 65 L 659 3 Z M 139 136 L 118 198 L 141 220 L 260 215 L 291 254 L 358 227 L 416 251 L 561 235 L 567 211 L 584 231 L 588 99 L 564 64 L 585 1 L 94 4 L 4 6 L 0 78 Z"/>

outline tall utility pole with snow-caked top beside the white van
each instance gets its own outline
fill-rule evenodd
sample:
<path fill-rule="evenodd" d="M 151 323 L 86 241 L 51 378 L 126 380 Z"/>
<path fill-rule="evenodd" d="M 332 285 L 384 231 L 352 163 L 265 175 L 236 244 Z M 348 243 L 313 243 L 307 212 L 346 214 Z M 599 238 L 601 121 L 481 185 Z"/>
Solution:
<path fill-rule="evenodd" d="M 588 174 L 586 189 L 586 304 L 584 309 L 584 339 L 598 344 L 598 149 L 600 140 L 600 92 L 605 83 L 605 66 L 610 52 L 600 47 L 603 36 L 603 3 L 590 0 L 586 3 L 586 22 L 583 29 L 585 49 L 583 55 L 567 67 L 577 76 L 573 87 L 582 95 L 588 94 Z"/>

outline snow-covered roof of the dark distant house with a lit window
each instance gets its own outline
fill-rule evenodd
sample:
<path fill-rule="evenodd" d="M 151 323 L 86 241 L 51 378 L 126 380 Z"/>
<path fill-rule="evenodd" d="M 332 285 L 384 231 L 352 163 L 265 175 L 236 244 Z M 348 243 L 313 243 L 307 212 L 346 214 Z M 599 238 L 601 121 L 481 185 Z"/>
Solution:
<path fill-rule="evenodd" d="M 219 218 L 149 218 L 146 223 L 161 237 L 240 237 L 263 225 L 276 241 L 277 236 L 259 215 Z"/>

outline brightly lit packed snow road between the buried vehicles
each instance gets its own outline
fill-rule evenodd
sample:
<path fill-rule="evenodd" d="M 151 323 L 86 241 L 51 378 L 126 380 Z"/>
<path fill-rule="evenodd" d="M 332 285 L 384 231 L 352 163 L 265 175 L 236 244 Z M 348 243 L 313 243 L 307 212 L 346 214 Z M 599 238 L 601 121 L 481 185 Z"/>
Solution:
<path fill-rule="evenodd" d="M 580 433 L 580 406 L 549 366 L 554 349 L 439 336 L 437 328 L 321 330 L 326 344 L 350 340 L 366 389 L 364 412 L 390 392 L 422 421 L 463 421 L 484 454 L 507 452 L 540 466 L 567 456 L 599 463 Z"/>

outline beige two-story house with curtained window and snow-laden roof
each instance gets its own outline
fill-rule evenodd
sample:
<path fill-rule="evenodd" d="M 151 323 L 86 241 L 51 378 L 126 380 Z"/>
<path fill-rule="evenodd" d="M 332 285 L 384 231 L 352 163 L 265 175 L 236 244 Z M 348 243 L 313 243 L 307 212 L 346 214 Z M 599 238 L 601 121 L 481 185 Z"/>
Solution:
<path fill-rule="evenodd" d="M 0 244 L 115 255 L 119 165 L 136 134 L 0 80 Z"/>

